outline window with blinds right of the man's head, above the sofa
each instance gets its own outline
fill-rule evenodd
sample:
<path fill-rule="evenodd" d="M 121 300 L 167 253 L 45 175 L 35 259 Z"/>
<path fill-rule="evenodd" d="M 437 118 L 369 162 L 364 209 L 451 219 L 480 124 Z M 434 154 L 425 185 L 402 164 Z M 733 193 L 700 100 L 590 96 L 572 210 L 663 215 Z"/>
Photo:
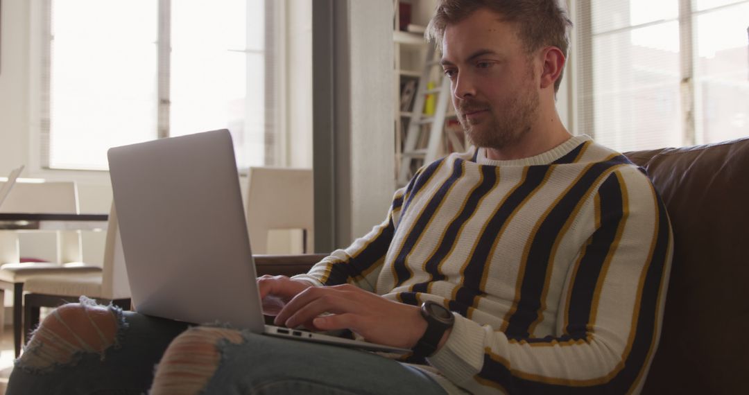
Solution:
<path fill-rule="evenodd" d="M 620 151 L 749 135 L 748 0 L 573 0 L 578 132 Z"/>

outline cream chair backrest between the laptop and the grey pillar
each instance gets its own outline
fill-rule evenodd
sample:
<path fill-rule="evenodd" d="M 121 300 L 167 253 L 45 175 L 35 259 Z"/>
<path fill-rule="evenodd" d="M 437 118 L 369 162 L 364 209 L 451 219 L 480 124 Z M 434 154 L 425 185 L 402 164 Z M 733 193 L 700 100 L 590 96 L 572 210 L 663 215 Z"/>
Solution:
<path fill-rule="evenodd" d="M 247 230 L 252 254 L 267 254 L 268 231 L 306 230 L 306 252 L 315 245 L 312 170 L 250 168 Z"/>

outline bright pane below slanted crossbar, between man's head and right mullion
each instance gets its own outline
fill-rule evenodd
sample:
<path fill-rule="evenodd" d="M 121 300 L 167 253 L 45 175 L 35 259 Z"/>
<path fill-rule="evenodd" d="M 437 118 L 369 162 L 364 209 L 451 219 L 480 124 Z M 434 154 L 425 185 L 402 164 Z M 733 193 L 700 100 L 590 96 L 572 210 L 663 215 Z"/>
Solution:
<path fill-rule="evenodd" d="M 593 51 L 596 141 L 620 151 L 680 145 L 678 22 L 593 37 Z"/>

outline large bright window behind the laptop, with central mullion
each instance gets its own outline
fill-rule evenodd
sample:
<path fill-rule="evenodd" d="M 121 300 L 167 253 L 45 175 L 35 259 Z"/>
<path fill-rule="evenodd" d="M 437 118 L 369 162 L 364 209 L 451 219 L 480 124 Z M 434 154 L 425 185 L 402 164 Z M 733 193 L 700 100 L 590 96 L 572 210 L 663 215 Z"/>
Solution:
<path fill-rule="evenodd" d="M 274 165 L 274 2 L 44 0 L 42 167 L 106 170 L 109 147 L 223 128 L 240 168 Z"/>

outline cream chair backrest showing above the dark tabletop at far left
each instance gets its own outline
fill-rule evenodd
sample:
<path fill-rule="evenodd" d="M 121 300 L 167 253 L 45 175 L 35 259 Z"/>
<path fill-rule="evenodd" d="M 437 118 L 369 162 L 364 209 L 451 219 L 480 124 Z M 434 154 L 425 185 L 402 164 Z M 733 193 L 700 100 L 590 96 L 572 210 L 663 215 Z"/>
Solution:
<path fill-rule="evenodd" d="M 78 213 L 78 191 L 73 181 L 16 180 L 0 212 Z"/>

